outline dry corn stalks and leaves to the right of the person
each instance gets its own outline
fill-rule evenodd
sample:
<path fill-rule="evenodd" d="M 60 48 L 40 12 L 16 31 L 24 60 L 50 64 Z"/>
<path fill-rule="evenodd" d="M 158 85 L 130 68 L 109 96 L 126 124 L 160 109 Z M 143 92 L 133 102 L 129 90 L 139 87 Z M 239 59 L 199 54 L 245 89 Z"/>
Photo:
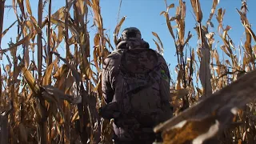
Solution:
<path fill-rule="evenodd" d="M 202 25 L 203 15 L 199 0 L 190 2 L 197 22 L 194 29 L 200 40 L 197 59 L 194 49 L 191 50 L 189 46 L 186 46 L 190 50 L 189 56 L 183 54 L 187 51 L 184 44 L 190 38 L 189 32 L 187 40 L 184 40 L 186 3 L 179 0 L 175 17 L 169 17 L 168 14 L 169 8 L 174 8 L 174 4 L 161 13 L 165 14 L 178 56 L 178 78 L 174 82 L 176 85 L 171 88 L 176 117 L 159 124 L 154 131 L 162 133 L 163 143 L 254 143 L 255 46 L 252 41 L 255 42 L 255 34 L 246 18 L 246 1 L 242 2 L 241 10 L 237 9 L 246 34 L 246 41 L 239 47 L 234 46 L 228 34 L 231 27 L 223 27 L 225 10 L 219 8 L 215 14 L 219 0 L 213 0 L 206 26 Z M 211 22 L 214 14 L 218 21 L 219 38 L 214 38 L 214 32 L 209 30 L 209 26 L 214 28 Z M 170 26 L 172 21 L 176 22 L 176 28 Z M 174 30 L 177 30 L 176 37 Z M 215 39 L 222 40 L 223 44 L 219 46 L 222 51 L 218 50 Z M 237 51 L 240 53 L 237 54 Z M 224 58 L 219 55 L 222 52 L 226 54 Z M 239 62 L 239 58 L 243 61 Z M 198 86 L 199 79 L 202 87 Z"/>

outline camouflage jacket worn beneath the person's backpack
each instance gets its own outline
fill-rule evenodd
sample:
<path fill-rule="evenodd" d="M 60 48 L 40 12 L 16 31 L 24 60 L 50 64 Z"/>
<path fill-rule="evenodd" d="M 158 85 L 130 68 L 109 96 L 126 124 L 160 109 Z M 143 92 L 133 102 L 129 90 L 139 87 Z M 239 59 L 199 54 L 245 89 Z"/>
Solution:
<path fill-rule="evenodd" d="M 122 100 L 122 78 L 120 78 L 119 74 L 119 65 L 121 63 L 121 54 L 122 51 L 127 49 L 136 49 L 145 47 L 149 48 L 147 42 L 143 40 L 132 40 L 120 42 L 118 44 L 117 50 L 114 50 L 112 54 L 110 54 L 103 63 L 102 69 L 102 92 L 103 98 L 105 98 L 106 103 L 118 102 Z M 161 69 L 164 70 L 167 75 L 166 83 L 161 86 L 162 96 L 162 111 L 164 114 L 161 122 L 166 121 L 172 116 L 172 111 L 170 110 L 170 73 L 168 66 L 166 65 L 165 59 L 161 54 L 158 54 L 158 62 L 160 63 Z M 114 105 L 113 105 L 114 106 Z M 109 111 L 112 113 L 113 111 Z M 153 127 L 152 127 L 153 130 Z M 118 127 L 114 124 L 115 134 L 120 137 L 127 137 L 126 130 L 122 129 L 122 127 Z M 129 136 L 128 136 L 129 137 Z"/>

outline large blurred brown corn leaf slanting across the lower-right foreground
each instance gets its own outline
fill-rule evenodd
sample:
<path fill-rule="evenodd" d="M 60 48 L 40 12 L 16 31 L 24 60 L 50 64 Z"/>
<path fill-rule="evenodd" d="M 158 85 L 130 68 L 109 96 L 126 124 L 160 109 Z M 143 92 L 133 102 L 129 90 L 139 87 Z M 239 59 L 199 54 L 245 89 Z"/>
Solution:
<path fill-rule="evenodd" d="M 211 94 L 177 117 L 159 124 L 154 128 L 154 132 L 162 132 L 164 143 L 202 143 L 206 142 L 206 139 L 214 138 L 216 134 L 222 134 L 223 130 L 232 124 L 238 109 L 256 98 L 255 80 L 256 70 L 244 74 L 237 81 Z M 178 141 L 178 138 L 181 141 Z"/>

